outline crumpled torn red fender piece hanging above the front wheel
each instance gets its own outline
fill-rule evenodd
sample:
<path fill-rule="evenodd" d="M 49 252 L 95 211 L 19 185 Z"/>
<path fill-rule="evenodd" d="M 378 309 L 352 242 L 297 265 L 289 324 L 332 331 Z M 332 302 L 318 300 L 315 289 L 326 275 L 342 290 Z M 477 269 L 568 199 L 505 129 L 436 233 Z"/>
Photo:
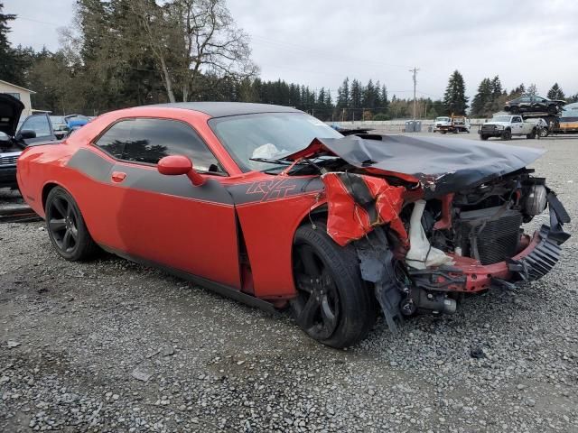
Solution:
<path fill-rule="evenodd" d="M 407 244 L 407 233 L 399 217 L 404 204 L 403 187 L 387 180 L 347 172 L 322 175 L 329 215 L 327 233 L 341 246 L 361 238 L 373 226 L 389 223 Z"/>

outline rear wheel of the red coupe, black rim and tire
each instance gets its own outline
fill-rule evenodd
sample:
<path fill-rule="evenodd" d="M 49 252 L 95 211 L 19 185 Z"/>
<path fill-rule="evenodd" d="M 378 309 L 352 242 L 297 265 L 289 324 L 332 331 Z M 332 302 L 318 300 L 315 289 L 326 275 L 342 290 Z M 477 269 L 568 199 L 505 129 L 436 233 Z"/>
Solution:
<path fill-rule="evenodd" d="M 51 243 L 62 257 L 70 262 L 76 262 L 88 260 L 98 253 L 98 245 L 89 234 L 79 206 L 66 189 L 61 187 L 51 189 L 46 198 L 44 211 L 46 230 Z M 64 230 L 64 235 L 61 235 L 62 230 Z M 74 240 L 74 245 L 70 247 L 67 247 L 64 241 L 67 233 L 69 233 L 69 238 Z"/>

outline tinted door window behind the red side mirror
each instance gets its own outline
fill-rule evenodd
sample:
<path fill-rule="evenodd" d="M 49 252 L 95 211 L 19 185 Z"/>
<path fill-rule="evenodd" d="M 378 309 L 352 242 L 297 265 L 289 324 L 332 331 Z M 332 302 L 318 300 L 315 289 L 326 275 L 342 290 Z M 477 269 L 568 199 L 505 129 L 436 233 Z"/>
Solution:
<path fill-rule="evenodd" d="M 176 120 L 145 118 L 135 119 L 131 124 L 123 160 L 156 164 L 164 156 L 184 155 L 191 159 L 195 170 L 224 171 L 191 126 Z"/>

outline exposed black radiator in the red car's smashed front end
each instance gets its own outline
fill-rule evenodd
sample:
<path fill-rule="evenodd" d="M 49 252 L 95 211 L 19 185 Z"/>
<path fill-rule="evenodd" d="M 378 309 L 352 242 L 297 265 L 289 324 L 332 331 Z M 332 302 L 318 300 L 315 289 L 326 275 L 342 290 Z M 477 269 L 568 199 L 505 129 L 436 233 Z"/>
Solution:
<path fill-rule="evenodd" d="M 476 258 L 477 247 L 481 264 L 502 262 L 517 253 L 521 225 L 522 214 L 516 210 L 489 207 L 461 212 L 462 254 Z"/>

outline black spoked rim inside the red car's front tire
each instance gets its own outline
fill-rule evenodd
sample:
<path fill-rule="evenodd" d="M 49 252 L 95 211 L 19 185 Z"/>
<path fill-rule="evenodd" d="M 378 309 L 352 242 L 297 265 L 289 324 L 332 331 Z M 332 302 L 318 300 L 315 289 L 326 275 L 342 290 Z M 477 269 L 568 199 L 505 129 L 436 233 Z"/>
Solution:
<path fill-rule="evenodd" d="M 335 332 L 340 298 L 335 281 L 322 258 L 309 244 L 294 248 L 294 280 L 299 296 L 293 301 L 295 318 L 312 338 L 325 340 Z"/>

